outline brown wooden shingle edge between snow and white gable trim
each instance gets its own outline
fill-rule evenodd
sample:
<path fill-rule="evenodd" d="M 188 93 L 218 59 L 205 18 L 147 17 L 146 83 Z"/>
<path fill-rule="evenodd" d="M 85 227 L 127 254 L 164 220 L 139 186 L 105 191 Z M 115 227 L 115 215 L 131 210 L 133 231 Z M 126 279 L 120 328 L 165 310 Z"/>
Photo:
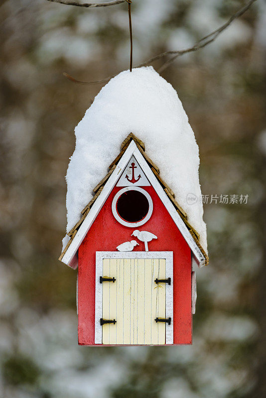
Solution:
<path fill-rule="evenodd" d="M 74 239 L 79 227 L 81 226 L 81 224 L 83 223 L 83 221 L 85 220 L 86 216 L 88 215 L 89 211 L 91 210 L 95 200 L 98 198 L 98 196 L 101 194 L 106 182 L 108 181 L 108 179 L 110 178 L 110 176 L 112 175 L 112 173 L 114 172 L 119 160 L 121 159 L 121 157 L 124 155 L 124 153 L 126 152 L 128 146 L 130 145 L 131 141 L 134 141 L 138 150 L 140 151 L 140 153 L 143 155 L 144 159 L 146 160 L 146 162 L 148 163 L 151 171 L 153 172 L 153 174 L 155 175 L 156 179 L 158 180 L 158 182 L 160 183 L 160 185 L 162 186 L 162 188 L 164 189 L 164 192 L 166 193 L 167 197 L 171 200 L 172 204 L 174 205 L 176 211 L 178 212 L 179 216 L 181 217 L 181 219 L 183 220 L 183 222 L 185 223 L 187 229 L 189 230 L 191 236 L 193 237 L 194 241 L 196 242 L 197 246 L 199 247 L 201 253 L 203 254 L 203 256 L 205 257 L 205 265 L 208 265 L 209 263 L 209 258 L 208 255 L 206 254 L 206 252 L 204 251 L 204 249 L 202 248 L 202 246 L 199 243 L 199 233 L 189 224 L 189 222 L 187 221 L 187 214 L 186 212 L 182 209 L 182 207 L 177 203 L 177 201 L 174 198 L 174 193 L 171 190 L 171 188 L 168 187 L 168 185 L 162 180 L 162 178 L 160 177 L 159 173 L 159 168 L 152 162 L 152 160 L 146 155 L 145 153 L 145 145 L 144 143 L 137 138 L 133 133 L 130 133 L 127 138 L 122 142 L 121 145 L 121 152 L 120 154 L 116 157 L 116 159 L 111 163 L 111 165 L 109 166 L 109 172 L 107 173 L 107 175 L 102 179 L 102 181 L 100 181 L 100 183 L 93 189 L 94 192 L 94 197 L 90 200 L 90 202 L 84 207 L 84 209 L 81 211 L 81 218 L 79 219 L 79 221 L 76 223 L 76 225 L 67 233 L 67 235 L 70 237 L 69 242 L 67 243 L 67 245 L 65 246 L 64 250 L 62 251 L 59 260 L 61 261 L 62 258 L 64 257 L 64 254 L 66 253 L 68 247 L 70 246 L 72 240 Z"/>

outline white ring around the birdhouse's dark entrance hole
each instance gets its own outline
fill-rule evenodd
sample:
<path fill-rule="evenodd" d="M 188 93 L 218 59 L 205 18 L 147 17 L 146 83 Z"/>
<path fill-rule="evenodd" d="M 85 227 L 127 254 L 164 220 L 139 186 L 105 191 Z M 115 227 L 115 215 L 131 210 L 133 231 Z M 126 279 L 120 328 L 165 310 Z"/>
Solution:
<path fill-rule="evenodd" d="M 123 220 L 123 218 L 121 218 L 117 212 L 117 201 L 121 197 L 121 195 L 123 195 L 127 191 L 138 191 L 141 194 L 143 194 L 148 200 L 149 209 L 148 209 L 147 215 L 140 221 L 127 222 L 127 221 Z M 126 227 L 135 228 L 135 227 L 139 227 L 140 225 L 145 224 L 145 222 L 147 222 L 150 219 L 152 211 L 153 211 L 153 203 L 152 203 L 152 199 L 151 199 L 150 195 L 145 190 L 143 190 L 142 188 L 139 188 L 139 187 L 131 186 L 131 187 L 123 188 L 122 190 L 118 191 L 118 193 L 115 195 L 115 198 L 113 199 L 113 202 L 112 202 L 112 212 L 113 212 L 115 219 L 118 222 L 120 222 L 120 224 L 125 225 Z"/>

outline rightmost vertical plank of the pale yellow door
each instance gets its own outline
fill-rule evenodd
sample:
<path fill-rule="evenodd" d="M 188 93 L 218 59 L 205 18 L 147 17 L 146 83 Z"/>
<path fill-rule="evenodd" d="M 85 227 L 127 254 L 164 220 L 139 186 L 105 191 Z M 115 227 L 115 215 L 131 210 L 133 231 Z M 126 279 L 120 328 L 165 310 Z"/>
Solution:
<path fill-rule="evenodd" d="M 165 275 L 165 260 L 164 259 L 160 259 L 159 260 L 159 277 L 158 279 L 165 279 L 166 275 Z M 166 314 L 165 314 L 165 291 L 166 291 L 166 286 L 163 283 L 159 283 L 158 285 L 158 318 L 165 318 Z M 165 328 L 168 325 L 166 325 L 165 323 L 158 323 L 158 336 L 157 336 L 157 344 L 165 344 Z"/>

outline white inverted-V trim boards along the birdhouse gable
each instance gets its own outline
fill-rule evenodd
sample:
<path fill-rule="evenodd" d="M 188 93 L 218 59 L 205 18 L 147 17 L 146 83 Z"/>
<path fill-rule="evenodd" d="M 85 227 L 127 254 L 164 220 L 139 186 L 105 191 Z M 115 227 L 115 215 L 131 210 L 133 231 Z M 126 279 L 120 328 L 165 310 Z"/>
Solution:
<path fill-rule="evenodd" d="M 147 179 L 149 180 L 150 184 L 153 186 L 154 190 L 156 191 L 157 195 L 163 202 L 164 206 L 166 207 L 168 213 L 172 217 L 175 225 L 181 232 L 182 236 L 184 237 L 185 241 L 189 245 L 195 260 L 197 261 L 198 265 L 201 267 L 205 265 L 205 257 L 200 251 L 199 247 L 197 246 L 195 240 L 191 236 L 189 230 L 187 229 L 185 223 L 183 222 L 182 218 L 176 211 L 173 203 L 167 197 L 166 193 L 164 192 L 163 188 L 161 187 L 160 183 L 158 182 L 157 178 L 151 171 L 150 167 L 148 166 L 146 160 L 138 150 L 135 142 L 132 140 L 130 145 L 128 146 L 126 152 L 122 155 L 120 161 L 118 162 L 117 167 L 107 180 L 101 194 L 95 200 L 91 210 L 89 211 L 88 215 L 84 219 L 83 223 L 81 224 L 80 228 L 78 229 L 76 235 L 74 236 L 73 241 L 69 245 L 67 251 L 65 252 L 63 258 L 61 259 L 62 263 L 66 265 L 71 265 L 71 262 L 81 244 L 83 239 L 85 238 L 87 232 L 89 231 L 91 225 L 93 224 L 94 220 L 96 219 L 97 215 L 99 214 L 101 208 L 103 207 L 106 199 L 110 195 L 111 191 L 115 187 L 117 181 L 119 180 L 121 173 L 126 168 L 127 164 L 129 163 L 131 157 L 134 156 L 136 161 L 138 162 L 139 166 L 142 168 L 144 174 L 146 175 Z"/>

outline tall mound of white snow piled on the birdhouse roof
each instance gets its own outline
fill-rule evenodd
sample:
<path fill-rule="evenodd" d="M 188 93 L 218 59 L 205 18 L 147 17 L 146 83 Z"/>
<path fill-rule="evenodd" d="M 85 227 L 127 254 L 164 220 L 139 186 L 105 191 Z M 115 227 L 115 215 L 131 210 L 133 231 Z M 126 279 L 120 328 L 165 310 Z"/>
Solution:
<path fill-rule="evenodd" d="M 199 148 L 176 91 L 152 67 L 125 71 L 110 80 L 75 128 L 76 148 L 66 175 L 67 231 L 80 219 L 92 189 L 105 177 L 131 132 L 144 142 L 145 152 L 207 250 L 199 200 Z M 187 202 L 189 194 L 198 198 L 196 203 Z"/>

